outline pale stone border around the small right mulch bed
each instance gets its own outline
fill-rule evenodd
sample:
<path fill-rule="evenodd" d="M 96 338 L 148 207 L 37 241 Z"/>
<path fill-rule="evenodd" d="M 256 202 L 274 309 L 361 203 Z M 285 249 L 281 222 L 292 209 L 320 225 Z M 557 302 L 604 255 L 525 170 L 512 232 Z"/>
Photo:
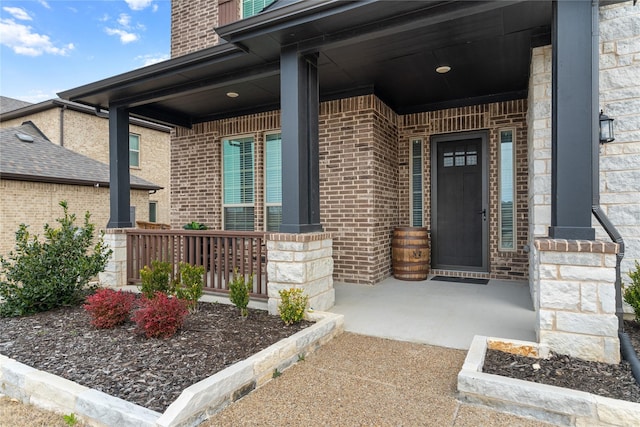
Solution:
<path fill-rule="evenodd" d="M 548 354 L 537 343 L 476 335 L 458 374 L 461 401 L 563 426 L 629 426 L 640 420 L 639 403 L 483 373 L 487 348 L 531 357 Z"/>

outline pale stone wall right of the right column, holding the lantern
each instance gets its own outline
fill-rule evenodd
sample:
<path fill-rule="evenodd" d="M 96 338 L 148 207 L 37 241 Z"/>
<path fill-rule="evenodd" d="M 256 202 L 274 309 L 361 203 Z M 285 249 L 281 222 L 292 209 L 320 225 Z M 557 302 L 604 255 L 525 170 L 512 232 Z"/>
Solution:
<path fill-rule="evenodd" d="M 616 137 L 600 148 L 600 205 L 624 238 L 622 278 L 630 282 L 626 273 L 640 260 L 640 7 L 601 7 L 600 46 L 600 106 L 615 119 Z"/>

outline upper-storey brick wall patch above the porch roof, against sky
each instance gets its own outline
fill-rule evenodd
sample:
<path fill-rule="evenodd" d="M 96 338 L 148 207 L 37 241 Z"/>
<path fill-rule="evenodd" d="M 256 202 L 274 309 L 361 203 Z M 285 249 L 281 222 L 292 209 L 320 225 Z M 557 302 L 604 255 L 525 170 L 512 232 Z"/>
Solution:
<path fill-rule="evenodd" d="M 218 0 L 171 1 L 171 57 L 214 46 L 218 35 Z"/>

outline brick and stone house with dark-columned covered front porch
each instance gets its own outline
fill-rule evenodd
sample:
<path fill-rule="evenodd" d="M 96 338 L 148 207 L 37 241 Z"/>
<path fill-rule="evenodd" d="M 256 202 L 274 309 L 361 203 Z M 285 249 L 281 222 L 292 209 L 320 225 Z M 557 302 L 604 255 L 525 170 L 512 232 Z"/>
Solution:
<path fill-rule="evenodd" d="M 129 115 L 177 126 L 172 224 L 269 231 L 270 295 L 330 307 L 332 279 L 383 280 L 394 228 L 421 226 L 433 273 L 528 279 L 540 342 L 616 361 L 621 247 L 592 210 L 625 276 L 638 22 L 632 1 L 174 0 L 171 60 L 60 96 L 111 104 L 116 152 Z"/>

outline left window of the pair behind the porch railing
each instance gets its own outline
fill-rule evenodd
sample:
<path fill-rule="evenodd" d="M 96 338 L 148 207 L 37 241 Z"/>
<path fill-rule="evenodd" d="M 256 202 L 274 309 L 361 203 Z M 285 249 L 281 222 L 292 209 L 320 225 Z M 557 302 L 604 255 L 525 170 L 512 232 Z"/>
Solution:
<path fill-rule="evenodd" d="M 253 138 L 222 141 L 222 215 L 225 230 L 254 229 Z"/>

